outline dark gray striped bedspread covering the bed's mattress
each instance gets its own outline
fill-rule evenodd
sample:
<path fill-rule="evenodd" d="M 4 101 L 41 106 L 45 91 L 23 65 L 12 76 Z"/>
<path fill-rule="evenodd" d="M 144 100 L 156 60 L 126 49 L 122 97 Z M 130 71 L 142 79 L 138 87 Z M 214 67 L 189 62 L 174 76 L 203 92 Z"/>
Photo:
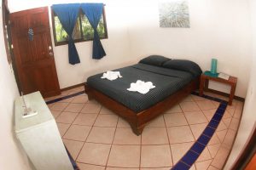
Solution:
<path fill-rule="evenodd" d="M 135 112 L 148 109 L 150 106 L 166 99 L 193 79 L 189 72 L 154 65 L 137 64 L 115 71 L 120 71 L 122 78 L 109 81 L 102 79 L 101 73 L 89 77 L 87 84 Z M 155 88 L 150 89 L 147 94 L 128 91 L 127 88 L 130 88 L 131 82 L 137 82 L 137 80 L 153 82 Z"/>

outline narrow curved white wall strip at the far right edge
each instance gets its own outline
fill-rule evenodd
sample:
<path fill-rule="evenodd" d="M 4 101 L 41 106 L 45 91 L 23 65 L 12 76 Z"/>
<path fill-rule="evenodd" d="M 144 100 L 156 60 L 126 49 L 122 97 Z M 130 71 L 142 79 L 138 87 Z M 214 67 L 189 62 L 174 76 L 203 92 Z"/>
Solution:
<path fill-rule="evenodd" d="M 230 158 L 226 163 L 224 169 L 230 169 L 232 164 L 236 161 L 237 156 L 241 154 L 241 151 L 245 147 L 247 139 L 253 131 L 253 127 L 256 126 L 256 0 L 249 0 L 250 11 L 252 17 L 252 32 L 253 32 L 253 62 L 252 62 L 252 70 L 250 76 L 250 82 L 247 90 L 247 98 L 244 105 L 244 110 L 241 116 L 241 124 L 238 129 L 238 133 L 236 136 L 236 141 L 233 146 L 233 149 L 230 153 Z"/>

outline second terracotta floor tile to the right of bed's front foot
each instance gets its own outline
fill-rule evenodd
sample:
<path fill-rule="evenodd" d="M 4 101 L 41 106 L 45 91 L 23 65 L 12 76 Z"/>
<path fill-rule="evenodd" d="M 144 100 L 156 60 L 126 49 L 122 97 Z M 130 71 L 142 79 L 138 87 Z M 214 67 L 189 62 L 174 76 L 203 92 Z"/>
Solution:
<path fill-rule="evenodd" d="M 189 126 L 167 127 L 170 144 L 195 141 Z"/>

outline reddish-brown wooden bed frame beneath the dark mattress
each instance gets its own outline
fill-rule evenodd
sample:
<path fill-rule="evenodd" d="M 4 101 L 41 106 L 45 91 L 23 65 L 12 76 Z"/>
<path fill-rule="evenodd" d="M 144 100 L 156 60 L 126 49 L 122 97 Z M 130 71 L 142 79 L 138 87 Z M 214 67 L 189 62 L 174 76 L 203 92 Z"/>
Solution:
<path fill-rule="evenodd" d="M 133 133 L 140 135 L 143 133 L 143 128 L 154 117 L 159 116 L 164 111 L 170 109 L 173 105 L 176 105 L 181 99 L 189 95 L 192 91 L 199 88 L 199 77 L 189 82 L 185 87 L 178 90 L 175 94 L 167 97 L 159 103 L 151 106 L 147 110 L 141 112 L 131 111 L 125 105 L 120 104 L 118 101 L 111 99 L 105 94 L 102 94 L 95 88 L 90 87 L 86 82 L 84 83 L 85 93 L 88 95 L 88 99 L 96 99 L 102 105 L 109 110 L 115 112 L 119 116 L 123 117 L 131 125 Z"/>

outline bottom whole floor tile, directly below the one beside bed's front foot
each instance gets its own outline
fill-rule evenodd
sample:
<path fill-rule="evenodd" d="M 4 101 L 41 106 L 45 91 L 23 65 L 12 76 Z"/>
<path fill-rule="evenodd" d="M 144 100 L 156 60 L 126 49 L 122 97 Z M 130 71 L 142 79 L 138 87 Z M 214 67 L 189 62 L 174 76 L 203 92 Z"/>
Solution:
<path fill-rule="evenodd" d="M 172 166 L 172 156 L 169 144 L 143 145 L 141 167 Z"/>

